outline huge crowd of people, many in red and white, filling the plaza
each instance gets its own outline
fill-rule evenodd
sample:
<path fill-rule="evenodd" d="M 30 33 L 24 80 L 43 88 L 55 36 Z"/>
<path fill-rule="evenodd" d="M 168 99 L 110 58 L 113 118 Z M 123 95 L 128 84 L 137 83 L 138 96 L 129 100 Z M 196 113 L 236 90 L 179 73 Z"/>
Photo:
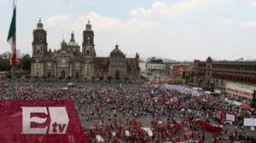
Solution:
<path fill-rule="evenodd" d="M 184 85 L 152 83 L 17 82 L 18 100 L 73 100 L 90 142 L 232 142 L 250 140 L 243 126 L 255 109 L 231 105 L 229 95 L 215 97 Z M 11 97 L 0 81 L 1 99 Z M 226 114 L 236 117 L 226 122 Z"/>

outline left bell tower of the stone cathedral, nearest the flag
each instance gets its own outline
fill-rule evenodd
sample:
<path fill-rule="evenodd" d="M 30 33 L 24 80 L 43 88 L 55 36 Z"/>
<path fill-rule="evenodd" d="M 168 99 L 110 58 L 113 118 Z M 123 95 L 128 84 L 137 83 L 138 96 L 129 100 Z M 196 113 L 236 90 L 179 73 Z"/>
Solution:
<path fill-rule="evenodd" d="M 47 32 L 44 30 L 44 25 L 40 19 L 38 21 L 37 29 L 34 29 L 33 31 L 32 55 L 44 56 L 47 54 L 47 46 Z"/>

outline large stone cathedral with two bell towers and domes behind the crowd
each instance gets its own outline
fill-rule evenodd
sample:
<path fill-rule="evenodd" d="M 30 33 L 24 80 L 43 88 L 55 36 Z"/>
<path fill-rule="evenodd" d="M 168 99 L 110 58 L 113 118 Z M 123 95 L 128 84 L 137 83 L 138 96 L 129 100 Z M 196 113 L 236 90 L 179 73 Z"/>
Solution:
<path fill-rule="evenodd" d="M 88 21 L 83 32 L 82 50 L 72 32 L 70 41 L 61 43 L 61 49 L 48 49 L 47 31 L 39 20 L 33 31 L 32 77 L 56 77 L 77 79 L 113 78 L 137 79 L 139 77 L 139 55 L 126 58 L 116 45 L 108 57 L 97 57 L 94 31 Z"/>

